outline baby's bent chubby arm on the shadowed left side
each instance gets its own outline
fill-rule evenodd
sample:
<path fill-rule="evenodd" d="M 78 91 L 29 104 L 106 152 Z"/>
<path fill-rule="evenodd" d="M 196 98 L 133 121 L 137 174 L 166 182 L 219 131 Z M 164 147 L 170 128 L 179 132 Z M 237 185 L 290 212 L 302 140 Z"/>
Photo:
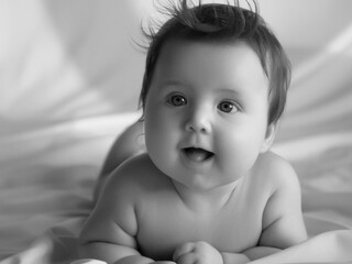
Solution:
<path fill-rule="evenodd" d="M 129 167 L 131 166 L 122 165 L 111 175 L 88 218 L 79 238 L 81 257 L 116 264 L 154 263 L 138 251 L 138 220 L 134 210 L 136 193 L 129 179 L 132 177 L 129 175 Z"/>

